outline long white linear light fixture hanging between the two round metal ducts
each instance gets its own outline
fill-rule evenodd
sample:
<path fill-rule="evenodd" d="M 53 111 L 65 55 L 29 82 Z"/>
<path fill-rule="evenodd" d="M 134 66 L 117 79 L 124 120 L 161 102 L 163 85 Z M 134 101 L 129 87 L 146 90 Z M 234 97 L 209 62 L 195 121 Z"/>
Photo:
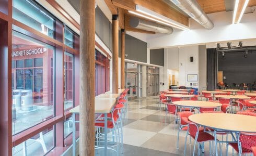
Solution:
<path fill-rule="evenodd" d="M 158 14 L 152 10 L 149 10 L 145 7 L 142 7 L 140 5 L 136 5 L 136 11 L 137 12 L 129 10 L 129 12 L 131 14 L 141 16 L 141 17 L 144 17 L 144 18 L 147 18 L 147 19 L 150 19 L 150 20 L 153 20 L 153 21 L 165 24 L 165 25 L 169 25 L 170 27 L 178 28 L 181 30 L 189 30 L 189 27 L 187 27 L 186 25 L 180 24 L 170 18 L 160 15 L 160 14 Z M 142 14 L 139 14 L 138 12 L 142 13 Z M 147 15 L 147 16 L 145 16 L 145 15 Z"/>

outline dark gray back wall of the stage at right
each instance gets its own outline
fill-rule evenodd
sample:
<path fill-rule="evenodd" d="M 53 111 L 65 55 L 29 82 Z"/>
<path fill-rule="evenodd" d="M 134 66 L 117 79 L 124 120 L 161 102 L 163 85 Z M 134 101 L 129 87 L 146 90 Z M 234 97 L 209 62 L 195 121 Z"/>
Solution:
<path fill-rule="evenodd" d="M 232 86 L 232 83 L 253 83 L 256 81 L 256 53 L 248 54 L 247 58 L 240 53 L 225 53 L 225 59 L 218 53 L 218 70 L 226 76 L 224 83 Z"/>

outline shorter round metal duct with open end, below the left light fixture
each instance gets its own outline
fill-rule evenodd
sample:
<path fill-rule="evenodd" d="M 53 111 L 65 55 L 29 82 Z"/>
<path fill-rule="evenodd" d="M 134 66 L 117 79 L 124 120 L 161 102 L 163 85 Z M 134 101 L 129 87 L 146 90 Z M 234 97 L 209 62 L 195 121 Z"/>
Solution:
<path fill-rule="evenodd" d="M 152 21 L 146 21 L 136 17 L 132 17 L 130 19 L 130 25 L 132 28 L 137 28 L 137 29 L 142 29 L 147 31 L 154 31 L 154 32 L 164 33 L 164 34 L 171 34 L 173 32 L 173 29 L 171 27 L 168 27 L 166 25 L 161 25 Z"/>

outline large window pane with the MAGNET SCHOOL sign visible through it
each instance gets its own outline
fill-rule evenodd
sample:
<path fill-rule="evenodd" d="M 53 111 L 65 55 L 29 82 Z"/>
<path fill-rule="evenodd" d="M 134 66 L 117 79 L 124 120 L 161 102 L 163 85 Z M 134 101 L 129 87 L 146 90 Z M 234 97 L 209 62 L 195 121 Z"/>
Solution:
<path fill-rule="evenodd" d="M 54 116 L 54 51 L 53 46 L 13 31 L 13 135 Z"/>

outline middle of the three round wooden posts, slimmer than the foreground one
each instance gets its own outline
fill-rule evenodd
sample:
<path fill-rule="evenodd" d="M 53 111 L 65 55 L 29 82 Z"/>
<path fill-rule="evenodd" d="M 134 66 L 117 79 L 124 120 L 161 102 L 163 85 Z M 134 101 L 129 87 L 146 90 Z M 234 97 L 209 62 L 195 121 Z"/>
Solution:
<path fill-rule="evenodd" d="M 112 16 L 113 56 L 112 56 L 112 93 L 118 93 L 118 15 Z"/>

